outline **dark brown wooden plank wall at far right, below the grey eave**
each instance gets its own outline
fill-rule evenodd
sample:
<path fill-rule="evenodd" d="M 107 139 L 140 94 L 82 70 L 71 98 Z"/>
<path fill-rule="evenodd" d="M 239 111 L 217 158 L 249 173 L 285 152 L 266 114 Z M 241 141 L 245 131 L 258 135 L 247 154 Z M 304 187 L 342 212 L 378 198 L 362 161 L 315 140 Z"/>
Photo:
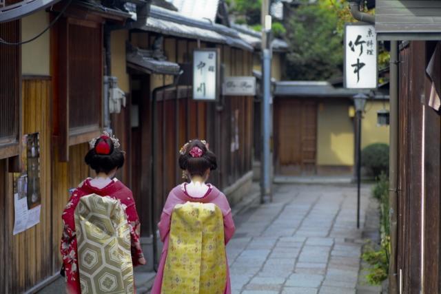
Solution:
<path fill-rule="evenodd" d="M 403 293 L 440 293 L 441 122 L 440 113 L 427 106 L 431 82 L 424 74 L 434 45 L 412 41 L 400 52 L 398 271 Z"/>

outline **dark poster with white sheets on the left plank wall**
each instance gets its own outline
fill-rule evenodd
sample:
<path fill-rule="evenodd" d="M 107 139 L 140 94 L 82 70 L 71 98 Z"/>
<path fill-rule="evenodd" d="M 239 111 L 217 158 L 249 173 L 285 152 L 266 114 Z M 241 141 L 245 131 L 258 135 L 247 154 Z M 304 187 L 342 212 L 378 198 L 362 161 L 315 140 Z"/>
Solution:
<path fill-rule="evenodd" d="M 21 233 L 40 222 L 40 136 L 27 134 L 21 140 L 21 172 L 14 173 L 14 231 Z"/>

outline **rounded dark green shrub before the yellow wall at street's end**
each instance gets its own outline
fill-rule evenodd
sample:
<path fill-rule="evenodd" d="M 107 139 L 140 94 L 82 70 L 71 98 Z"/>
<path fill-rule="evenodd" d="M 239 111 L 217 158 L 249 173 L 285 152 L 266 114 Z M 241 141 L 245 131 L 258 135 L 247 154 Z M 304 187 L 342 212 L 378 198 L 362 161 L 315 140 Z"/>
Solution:
<path fill-rule="evenodd" d="M 374 143 L 361 151 L 361 165 L 370 169 L 373 176 L 389 174 L 389 145 Z"/>

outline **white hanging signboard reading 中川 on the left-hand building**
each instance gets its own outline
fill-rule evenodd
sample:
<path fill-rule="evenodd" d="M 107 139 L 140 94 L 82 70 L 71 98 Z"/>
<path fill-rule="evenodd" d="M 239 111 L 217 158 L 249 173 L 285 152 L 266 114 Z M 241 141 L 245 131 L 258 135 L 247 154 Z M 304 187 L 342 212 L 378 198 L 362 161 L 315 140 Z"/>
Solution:
<path fill-rule="evenodd" d="M 216 100 L 218 97 L 219 52 L 216 48 L 193 52 L 193 99 Z"/>

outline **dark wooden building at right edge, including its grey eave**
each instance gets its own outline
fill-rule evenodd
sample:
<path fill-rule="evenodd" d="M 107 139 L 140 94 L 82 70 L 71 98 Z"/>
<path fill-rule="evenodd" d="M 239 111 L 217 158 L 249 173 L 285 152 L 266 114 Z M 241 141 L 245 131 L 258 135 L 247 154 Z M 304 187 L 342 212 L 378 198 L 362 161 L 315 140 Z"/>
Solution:
<path fill-rule="evenodd" d="M 440 11 L 440 1 L 376 1 L 378 39 L 399 48 L 391 61 L 398 67 L 398 150 L 391 154 L 398 203 L 389 284 L 401 293 L 441 293 Z"/>

